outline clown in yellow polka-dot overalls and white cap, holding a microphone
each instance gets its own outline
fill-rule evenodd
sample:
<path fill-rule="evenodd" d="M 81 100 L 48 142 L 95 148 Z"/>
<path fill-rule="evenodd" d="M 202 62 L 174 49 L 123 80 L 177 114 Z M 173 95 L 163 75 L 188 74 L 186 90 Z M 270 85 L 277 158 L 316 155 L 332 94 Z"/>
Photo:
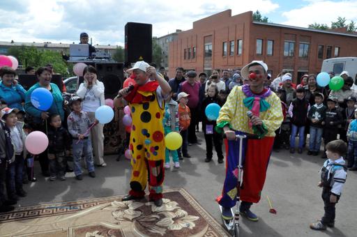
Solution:
<path fill-rule="evenodd" d="M 135 85 L 132 90 L 121 89 L 119 95 L 128 101 L 132 116 L 130 151 L 132 174 L 130 192 L 123 201 L 142 199 L 149 182 L 149 201 L 162 205 L 162 183 L 165 169 L 165 136 L 162 126 L 165 102 L 171 88 L 154 67 L 137 61 L 132 73 Z M 149 180 L 148 180 L 149 179 Z"/>

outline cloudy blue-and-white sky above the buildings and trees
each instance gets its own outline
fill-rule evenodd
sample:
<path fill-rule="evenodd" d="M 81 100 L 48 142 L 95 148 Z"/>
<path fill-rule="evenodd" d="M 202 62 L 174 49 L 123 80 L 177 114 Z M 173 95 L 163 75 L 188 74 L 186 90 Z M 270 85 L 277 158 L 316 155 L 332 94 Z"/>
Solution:
<path fill-rule="evenodd" d="M 72 43 L 86 31 L 93 44 L 123 45 L 126 22 L 153 24 L 153 36 L 192 29 L 192 22 L 231 9 L 259 10 L 271 22 L 357 22 L 357 1 L 324 0 L 0 0 L 0 41 Z"/>

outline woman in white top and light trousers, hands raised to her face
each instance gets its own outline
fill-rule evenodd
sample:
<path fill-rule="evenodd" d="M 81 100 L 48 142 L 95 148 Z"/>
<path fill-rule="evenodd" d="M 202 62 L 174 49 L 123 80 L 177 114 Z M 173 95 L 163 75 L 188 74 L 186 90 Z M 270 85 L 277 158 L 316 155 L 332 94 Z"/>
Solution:
<path fill-rule="evenodd" d="M 97 70 L 87 66 L 83 72 L 84 83 L 79 85 L 77 95 L 83 99 L 82 110 L 86 112 L 92 122 L 96 120 L 96 109 L 104 102 L 104 84 L 97 79 Z M 103 125 L 98 123 L 91 129 L 91 140 L 94 150 L 94 164 L 106 167 L 104 161 L 104 135 Z"/>

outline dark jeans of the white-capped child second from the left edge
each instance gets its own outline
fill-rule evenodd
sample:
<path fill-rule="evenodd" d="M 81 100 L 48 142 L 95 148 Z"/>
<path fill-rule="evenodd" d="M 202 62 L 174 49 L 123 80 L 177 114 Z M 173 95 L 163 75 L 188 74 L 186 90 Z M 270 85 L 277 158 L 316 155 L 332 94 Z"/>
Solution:
<path fill-rule="evenodd" d="M 6 190 L 8 197 L 22 189 L 22 170 L 24 169 L 24 156 L 15 155 L 15 161 L 8 165 L 6 170 Z"/>

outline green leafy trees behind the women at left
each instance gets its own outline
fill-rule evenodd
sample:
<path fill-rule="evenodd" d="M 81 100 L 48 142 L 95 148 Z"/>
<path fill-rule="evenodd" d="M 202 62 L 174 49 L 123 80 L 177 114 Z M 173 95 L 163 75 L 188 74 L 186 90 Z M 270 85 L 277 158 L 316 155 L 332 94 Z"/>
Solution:
<path fill-rule="evenodd" d="M 68 68 L 63 61 L 60 52 L 54 52 L 51 50 L 37 49 L 36 47 L 11 47 L 8 49 L 8 54 L 15 56 L 19 61 L 19 64 L 24 68 L 32 66 L 33 68 L 39 68 L 51 63 L 54 72 L 60 73 L 63 77 L 68 76 Z"/>

